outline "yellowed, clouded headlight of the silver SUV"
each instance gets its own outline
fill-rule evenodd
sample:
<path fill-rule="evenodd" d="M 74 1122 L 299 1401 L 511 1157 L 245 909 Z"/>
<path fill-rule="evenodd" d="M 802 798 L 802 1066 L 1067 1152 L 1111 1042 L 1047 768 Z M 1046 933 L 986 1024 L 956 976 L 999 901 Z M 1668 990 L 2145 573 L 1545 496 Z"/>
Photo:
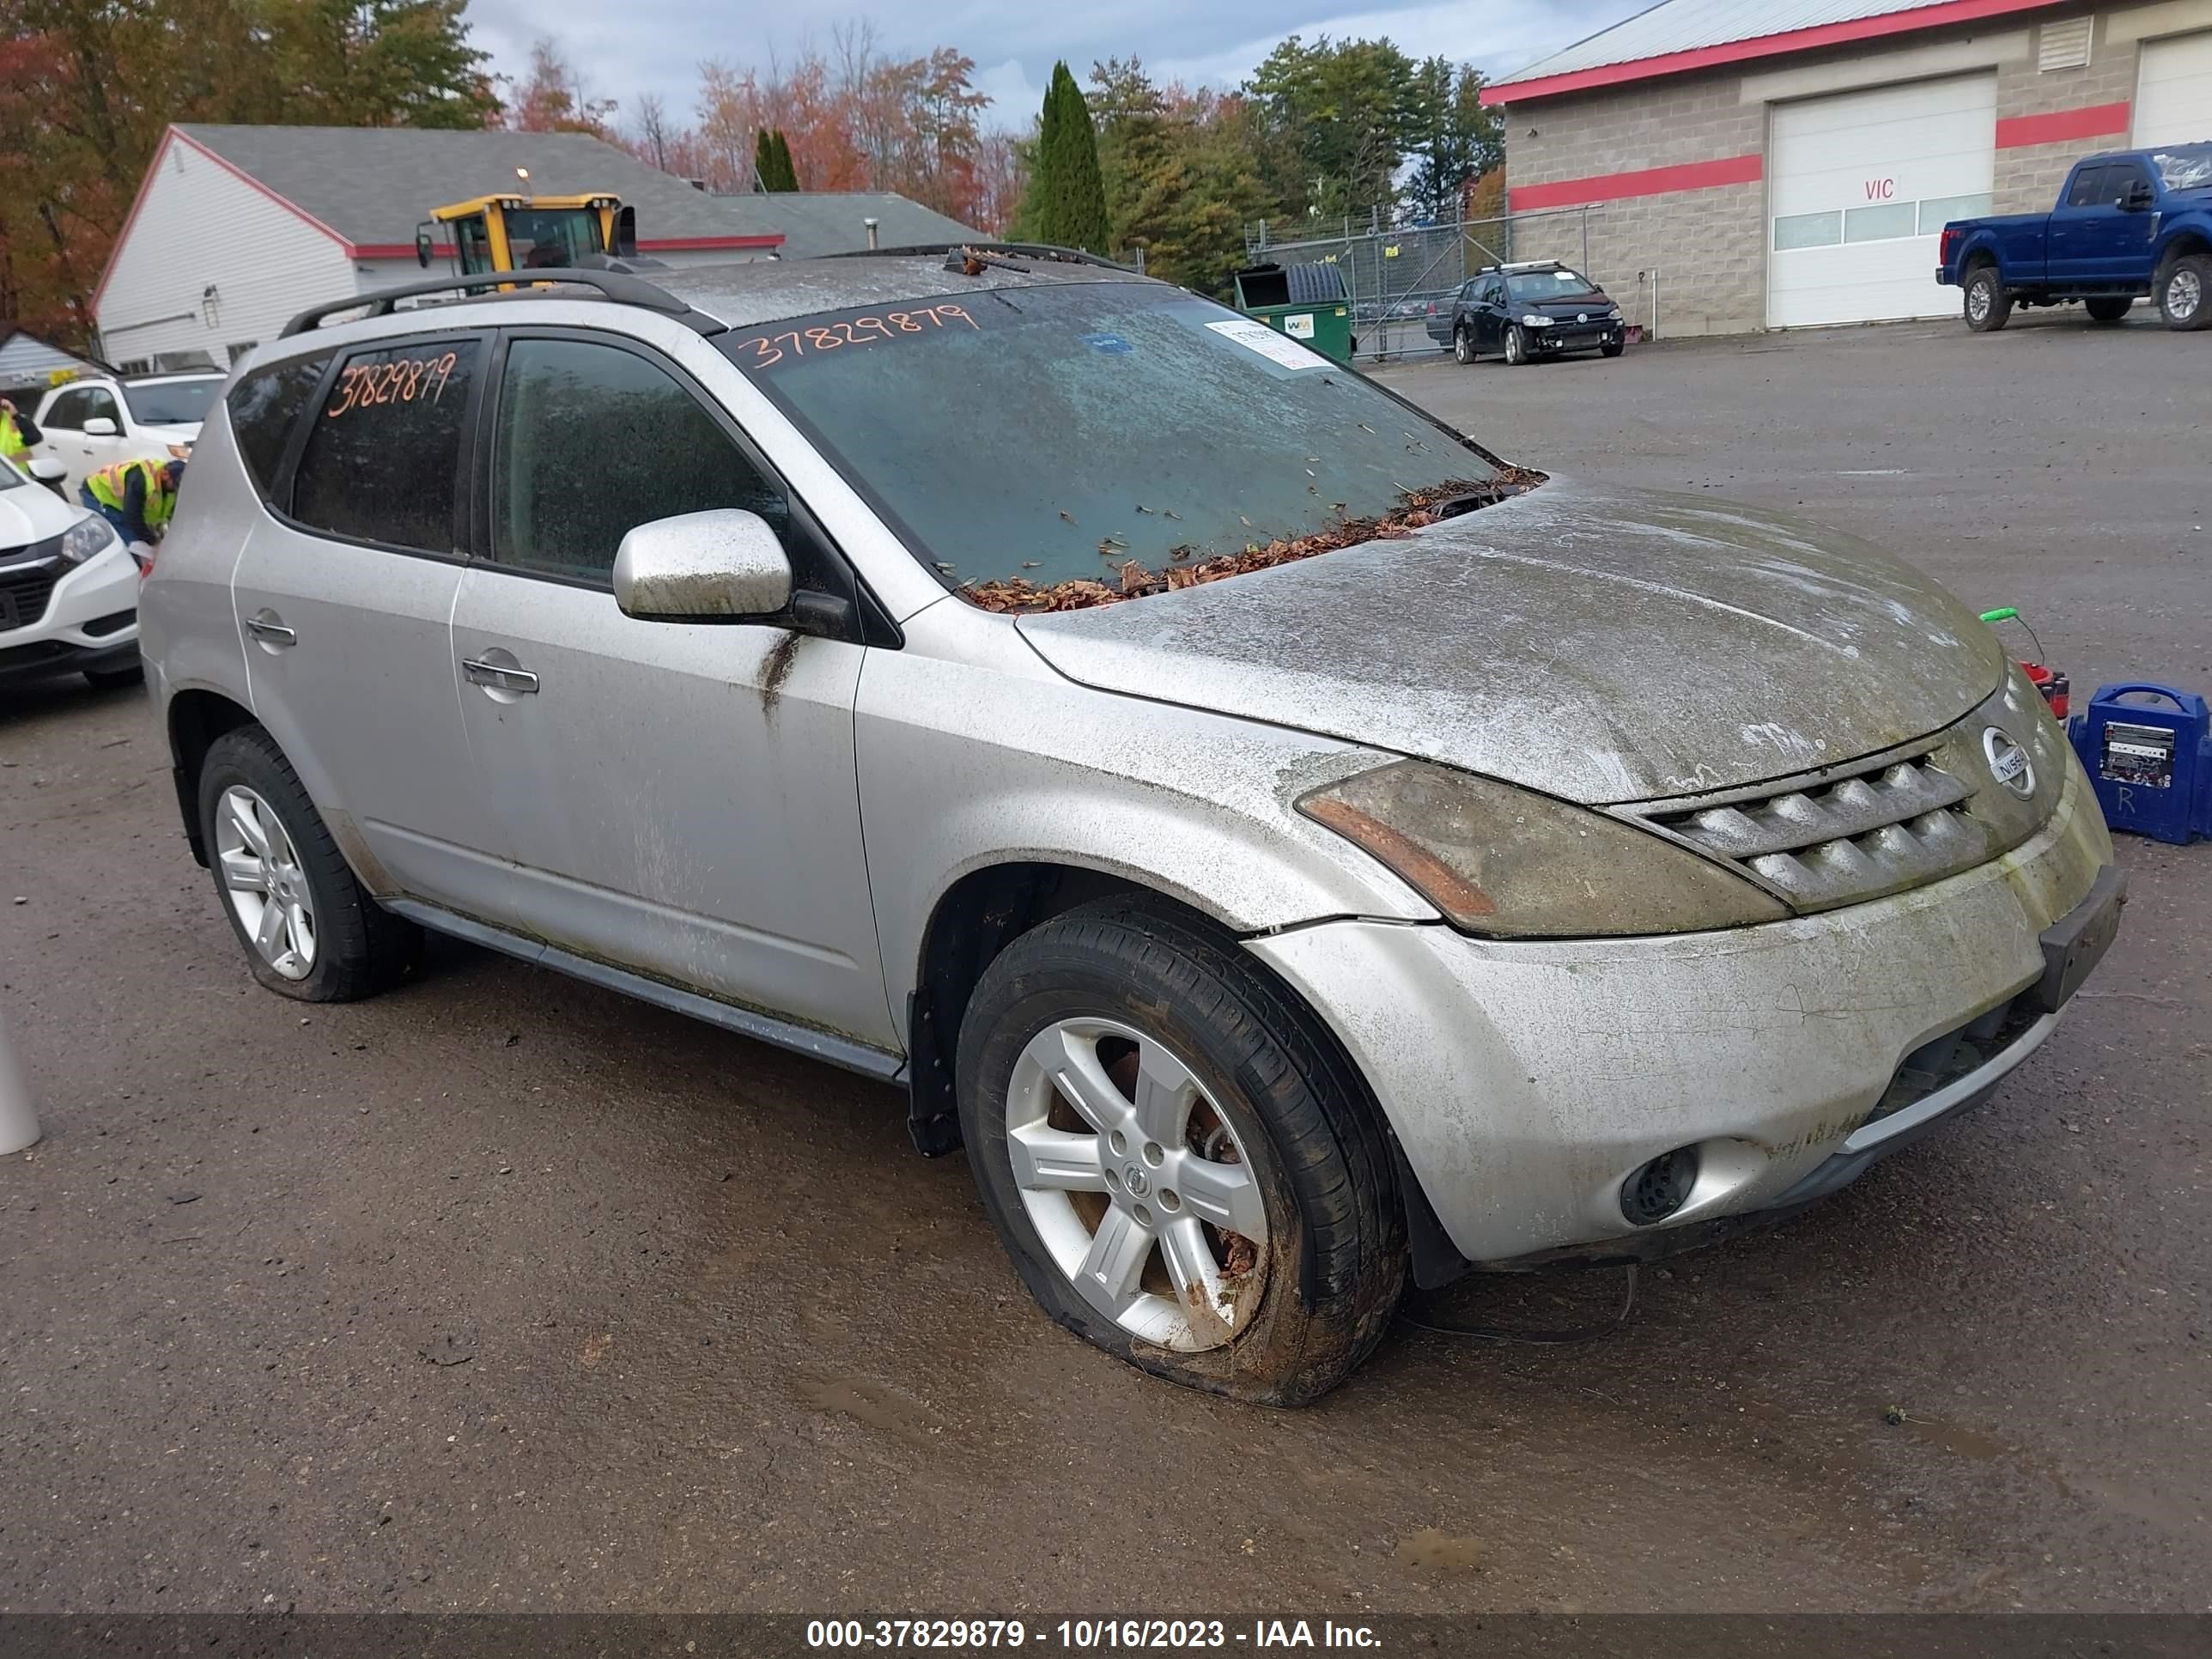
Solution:
<path fill-rule="evenodd" d="M 1329 783 L 1296 807 L 1469 933 L 1701 933 L 1790 916 L 1772 894 L 1648 830 L 1425 761 Z"/>

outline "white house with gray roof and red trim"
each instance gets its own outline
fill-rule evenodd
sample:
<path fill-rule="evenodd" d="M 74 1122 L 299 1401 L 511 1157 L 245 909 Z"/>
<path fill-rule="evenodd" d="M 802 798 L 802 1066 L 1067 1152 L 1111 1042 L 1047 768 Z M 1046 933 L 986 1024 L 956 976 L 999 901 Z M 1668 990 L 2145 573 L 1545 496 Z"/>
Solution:
<path fill-rule="evenodd" d="M 975 234 L 896 195 L 714 197 L 586 133 L 170 126 L 93 294 L 102 354 L 228 367 L 307 305 L 422 279 L 416 226 L 518 192 L 515 168 L 531 195 L 622 197 L 668 265 L 865 248 L 872 217 L 885 248 Z"/>

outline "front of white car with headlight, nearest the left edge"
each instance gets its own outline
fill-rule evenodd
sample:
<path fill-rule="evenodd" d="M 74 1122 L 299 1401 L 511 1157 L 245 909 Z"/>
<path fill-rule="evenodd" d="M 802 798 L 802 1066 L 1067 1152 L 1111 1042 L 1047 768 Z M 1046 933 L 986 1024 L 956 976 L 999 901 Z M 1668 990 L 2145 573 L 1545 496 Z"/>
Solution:
<path fill-rule="evenodd" d="M 0 686 L 135 681 L 137 584 L 137 562 L 104 518 L 0 462 Z"/>

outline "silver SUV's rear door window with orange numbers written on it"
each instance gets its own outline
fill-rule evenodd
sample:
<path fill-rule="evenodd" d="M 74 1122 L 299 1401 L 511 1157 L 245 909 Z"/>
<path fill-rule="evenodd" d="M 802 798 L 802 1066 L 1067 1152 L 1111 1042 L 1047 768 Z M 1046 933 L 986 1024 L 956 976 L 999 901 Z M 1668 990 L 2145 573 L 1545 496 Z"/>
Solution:
<path fill-rule="evenodd" d="M 292 518 L 354 542 L 456 555 L 460 436 L 480 356 L 473 338 L 349 354 L 314 411 Z"/>

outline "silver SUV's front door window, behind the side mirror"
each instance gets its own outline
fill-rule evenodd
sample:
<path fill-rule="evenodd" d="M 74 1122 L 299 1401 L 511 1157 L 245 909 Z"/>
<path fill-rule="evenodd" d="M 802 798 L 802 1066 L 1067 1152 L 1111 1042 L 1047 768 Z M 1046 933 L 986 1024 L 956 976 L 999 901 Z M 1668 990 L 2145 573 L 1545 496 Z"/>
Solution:
<path fill-rule="evenodd" d="M 790 502 L 688 387 L 617 345 L 507 347 L 491 442 L 491 557 L 608 584 L 639 524 L 712 507 L 759 513 L 776 535 Z"/>

